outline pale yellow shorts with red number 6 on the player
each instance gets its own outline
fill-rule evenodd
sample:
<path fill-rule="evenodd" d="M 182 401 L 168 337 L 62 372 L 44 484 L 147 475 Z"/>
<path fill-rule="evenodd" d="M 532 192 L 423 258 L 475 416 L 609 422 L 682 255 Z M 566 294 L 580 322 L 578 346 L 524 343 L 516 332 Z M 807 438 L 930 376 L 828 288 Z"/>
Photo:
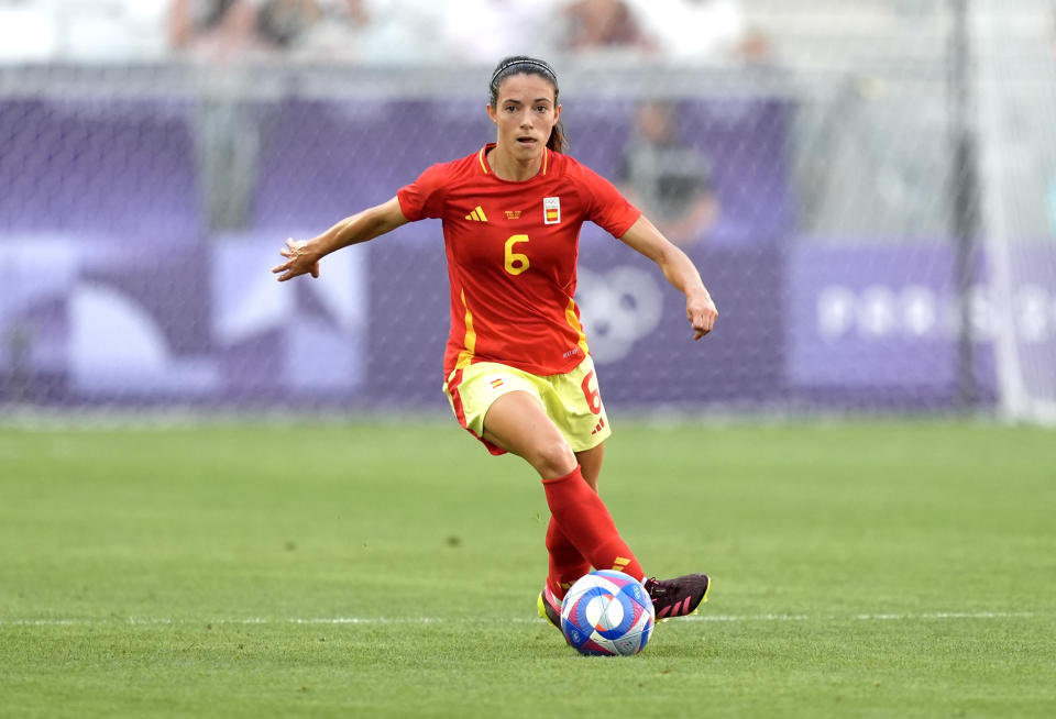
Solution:
<path fill-rule="evenodd" d="M 479 362 L 452 372 L 443 391 L 459 423 L 492 454 L 506 451 L 483 439 L 484 416 L 492 402 L 513 391 L 526 391 L 538 399 L 573 452 L 591 450 L 613 433 L 590 355 L 572 372 L 547 377 L 497 362 Z"/>

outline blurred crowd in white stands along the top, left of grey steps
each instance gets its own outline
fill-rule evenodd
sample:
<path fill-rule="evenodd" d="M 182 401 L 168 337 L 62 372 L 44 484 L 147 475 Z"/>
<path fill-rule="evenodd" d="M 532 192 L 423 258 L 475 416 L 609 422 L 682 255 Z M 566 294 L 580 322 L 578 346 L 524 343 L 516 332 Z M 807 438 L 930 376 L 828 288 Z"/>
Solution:
<path fill-rule="evenodd" d="M 9 62 L 283 54 L 472 64 L 526 46 L 691 63 L 768 54 L 766 35 L 738 0 L 7 0 L 0 29 L 0 57 Z"/>

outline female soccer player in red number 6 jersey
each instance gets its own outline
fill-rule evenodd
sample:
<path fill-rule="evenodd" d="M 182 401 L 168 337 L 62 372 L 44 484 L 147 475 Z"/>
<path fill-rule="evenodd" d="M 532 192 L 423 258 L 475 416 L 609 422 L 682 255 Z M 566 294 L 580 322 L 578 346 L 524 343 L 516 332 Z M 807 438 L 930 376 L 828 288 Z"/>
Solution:
<path fill-rule="evenodd" d="M 597 495 L 610 434 L 575 300 L 580 226 L 591 220 L 649 257 L 685 295 L 693 339 L 718 311 L 685 253 L 615 187 L 562 154 L 558 78 L 549 64 L 508 57 L 492 75 L 497 141 L 433 165 L 396 197 L 312 240 L 287 240 L 278 280 L 319 276 L 319 261 L 407 223 L 440 218 L 451 284 L 444 391 L 463 428 L 493 454 L 512 452 L 542 478 L 551 519 L 538 606 L 560 628 L 561 598 L 590 568 L 645 583 L 657 617 L 696 610 L 708 577 L 646 578 Z"/>

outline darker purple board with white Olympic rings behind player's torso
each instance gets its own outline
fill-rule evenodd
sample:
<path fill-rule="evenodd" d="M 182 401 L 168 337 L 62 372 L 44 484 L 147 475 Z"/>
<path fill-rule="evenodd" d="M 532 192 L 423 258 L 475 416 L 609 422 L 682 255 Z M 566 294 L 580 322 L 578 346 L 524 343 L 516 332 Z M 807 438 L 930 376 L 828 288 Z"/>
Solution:
<path fill-rule="evenodd" d="M 440 225 L 403 228 L 370 246 L 373 403 L 442 401 L 449 294 Z M 580 303 L 605 400 L 637 406 L 751 403 L 782 385 L 782 262 L 773 246 L 698 248 L 716 268 L 721 329 L 692 340 L 685 298 L 656 265 L 593 225 L 580 244 Z M 728 331 L 727 331 L 728 328 Z"/>

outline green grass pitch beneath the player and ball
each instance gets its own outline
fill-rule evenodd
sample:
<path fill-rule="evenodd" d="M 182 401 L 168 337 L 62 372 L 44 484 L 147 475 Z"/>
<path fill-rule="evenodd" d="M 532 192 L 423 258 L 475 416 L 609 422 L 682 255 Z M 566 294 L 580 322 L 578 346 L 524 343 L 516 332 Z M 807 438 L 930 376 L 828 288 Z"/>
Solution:
<path fill-rule="evenodd" d="M 624 422 L 602 483 L 714 577 L 637 657 L 535 616 L 542 489 L 453 423 L 2 429 L 0 716 L 1056 716 L 1056 433 Z"/>

